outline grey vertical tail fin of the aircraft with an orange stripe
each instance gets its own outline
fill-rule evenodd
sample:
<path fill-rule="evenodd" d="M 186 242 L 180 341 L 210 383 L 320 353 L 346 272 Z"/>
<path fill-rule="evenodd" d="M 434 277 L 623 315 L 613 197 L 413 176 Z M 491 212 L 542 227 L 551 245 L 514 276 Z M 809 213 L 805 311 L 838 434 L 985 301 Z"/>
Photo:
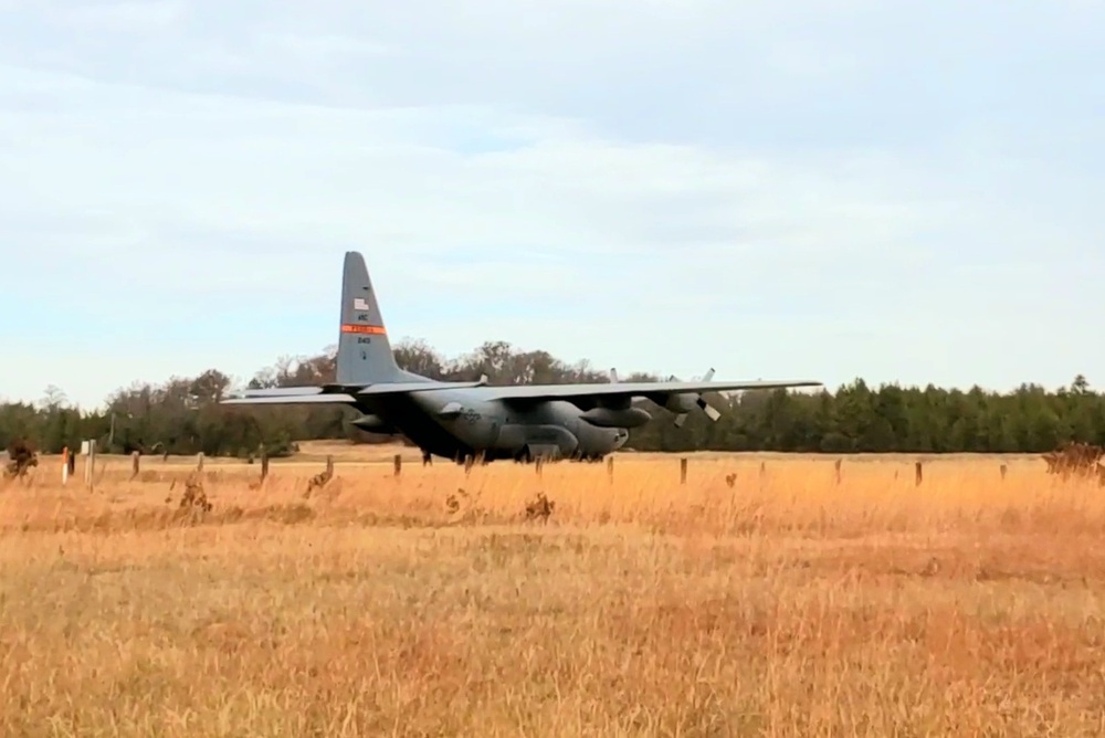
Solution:
<path fill-rule="evenodd" d="M 347 251 L 341 276 L 337 383 L 376 384 L 397 381 L 399 376 L 365 257 Z"/>

